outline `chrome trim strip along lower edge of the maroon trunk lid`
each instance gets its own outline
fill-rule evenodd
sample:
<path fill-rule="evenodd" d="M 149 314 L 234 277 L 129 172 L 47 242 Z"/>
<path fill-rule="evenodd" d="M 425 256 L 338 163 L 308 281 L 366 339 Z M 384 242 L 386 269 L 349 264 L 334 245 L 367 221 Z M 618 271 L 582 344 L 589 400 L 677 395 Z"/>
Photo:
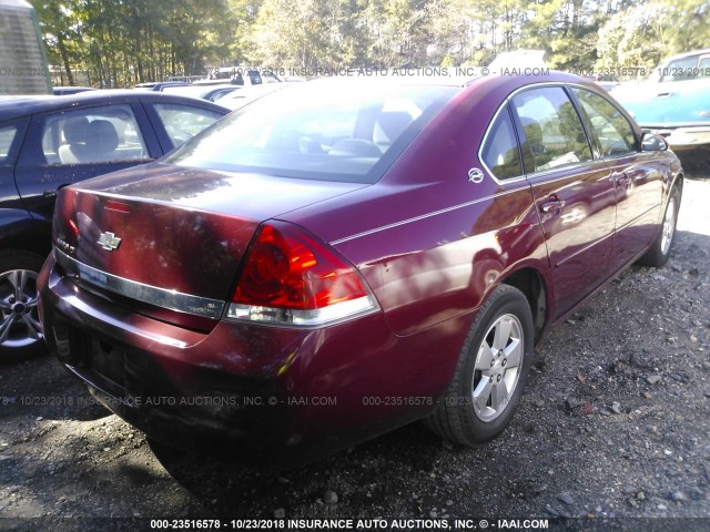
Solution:
<path fill-rule="evenodd" d="M 77 276 L 81 280 L 100 288 L 130 297 L 131 299 L 212 319 L 220 319 L 224 313 L 225 301 L 168 290 L 106 274 L 105 272 L 80 263 L 64 252 L 61 252 L 57 246 L 54 246 L 54 258 L 68 274 Z"/>

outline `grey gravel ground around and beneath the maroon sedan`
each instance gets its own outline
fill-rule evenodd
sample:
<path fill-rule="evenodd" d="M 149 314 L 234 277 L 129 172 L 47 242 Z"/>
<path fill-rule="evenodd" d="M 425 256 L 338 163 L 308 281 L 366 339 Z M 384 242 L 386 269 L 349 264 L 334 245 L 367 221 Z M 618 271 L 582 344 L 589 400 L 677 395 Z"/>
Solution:
<path fill-rule="evenodd" d="M 146 442 L 52 357 L 0 367 L 0 529 L 475 518 L 467 530 L 710 530 L 709 205 L 709 176 L 688 180 L 669 265 L 632 267 L 557 327 L 511 426 L 476 450 L 415 423 L 260 474 Z"/>

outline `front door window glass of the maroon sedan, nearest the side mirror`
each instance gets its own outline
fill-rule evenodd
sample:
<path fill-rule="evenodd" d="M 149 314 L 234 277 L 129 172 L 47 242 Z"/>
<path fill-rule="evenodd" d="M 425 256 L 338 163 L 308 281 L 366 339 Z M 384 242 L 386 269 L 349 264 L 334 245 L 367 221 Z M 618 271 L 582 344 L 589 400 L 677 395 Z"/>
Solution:
<path fill-rule="evenodd" d="M 589 116 L 601 156 L 623 155 L 637 151 L 636 135 L 629 121 L 606 99 L 591 91 L 572 89 Z"/>

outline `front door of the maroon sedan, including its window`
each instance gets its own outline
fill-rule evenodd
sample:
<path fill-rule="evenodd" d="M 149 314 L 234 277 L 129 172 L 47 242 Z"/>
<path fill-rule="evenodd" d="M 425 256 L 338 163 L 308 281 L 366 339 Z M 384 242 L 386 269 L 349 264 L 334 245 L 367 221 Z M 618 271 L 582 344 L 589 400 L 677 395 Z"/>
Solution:
<path fill-rule="evenodd" d="M 633 126 L 615 104 L 582 88 L 572 88 L 571 92 L 616 187 L 617 228 L 611 260 L 616 270 L 656 237 L 663 175 L 657 154 L 641 151 Z"/>

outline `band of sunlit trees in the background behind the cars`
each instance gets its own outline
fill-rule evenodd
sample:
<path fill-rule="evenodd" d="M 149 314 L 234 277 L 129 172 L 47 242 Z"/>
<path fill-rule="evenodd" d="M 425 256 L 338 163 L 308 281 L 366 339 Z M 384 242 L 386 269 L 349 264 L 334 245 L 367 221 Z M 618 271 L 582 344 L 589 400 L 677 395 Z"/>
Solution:
<path fill-rule="evenodd" d="M 31 0 L 49 58 L 108 86 L 207 66 L 488 64 L 542 49 L 550 66 L 652 68 L 710 42 L 708 0 Z"/>

